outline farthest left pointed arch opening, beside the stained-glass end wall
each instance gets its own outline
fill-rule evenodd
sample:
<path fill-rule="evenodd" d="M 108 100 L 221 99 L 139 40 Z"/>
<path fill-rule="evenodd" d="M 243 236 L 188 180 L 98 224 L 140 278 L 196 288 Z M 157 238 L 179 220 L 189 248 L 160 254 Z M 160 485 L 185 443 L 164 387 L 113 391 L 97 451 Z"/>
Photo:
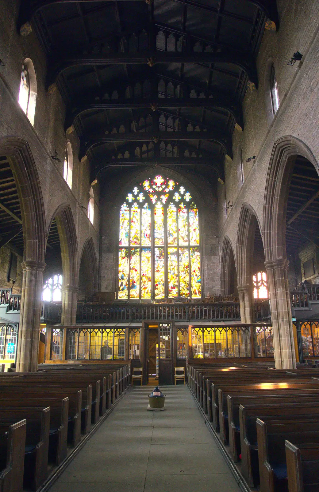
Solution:
<path fill-rule="evenodd" d="M 86 276 L 86 291 L 90 295 L 93 295 L 98 290 L 98 263 L 93 239 L 91 237 L 85 241 L 82 248 L 79 269 L 80 289 L 83 287 L 83 274 Z"/>

